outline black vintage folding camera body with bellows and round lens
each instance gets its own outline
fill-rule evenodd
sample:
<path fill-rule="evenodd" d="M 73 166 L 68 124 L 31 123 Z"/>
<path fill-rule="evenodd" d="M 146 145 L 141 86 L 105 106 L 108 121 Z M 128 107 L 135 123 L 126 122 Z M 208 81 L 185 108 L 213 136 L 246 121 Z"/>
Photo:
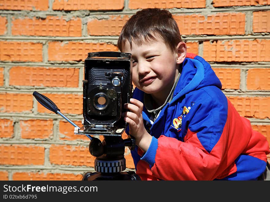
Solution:
<path fill-rule="evenodd" d="M 83 127 L 79 134 L 121 136 L 122 113 L 132 95 L 130 53 L 88 53 L 84 61 Z"/>

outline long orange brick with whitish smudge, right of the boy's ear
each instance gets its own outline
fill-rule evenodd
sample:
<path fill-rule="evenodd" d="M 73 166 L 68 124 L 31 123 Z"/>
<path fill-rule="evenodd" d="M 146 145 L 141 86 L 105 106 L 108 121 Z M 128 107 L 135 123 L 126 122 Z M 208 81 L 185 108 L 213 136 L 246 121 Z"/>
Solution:
<path fill-rule="evenodd" d="M 270 40 L 230 40 L 203 42 L 203 57 L 206 61 L 270 61 Z"/>

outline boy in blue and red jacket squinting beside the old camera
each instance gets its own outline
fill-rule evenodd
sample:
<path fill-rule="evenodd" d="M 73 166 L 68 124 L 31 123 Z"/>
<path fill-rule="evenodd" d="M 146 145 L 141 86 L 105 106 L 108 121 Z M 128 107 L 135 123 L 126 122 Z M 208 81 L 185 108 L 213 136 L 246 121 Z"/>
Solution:
<path fill-rule="evenodd" d="M 136 88 L 123 113 L 142 180 L 258 180 L 269 145 L 240 117 L 201 57 L 186 53 L 167 10 L 144 9 L 123 26 Z"/>

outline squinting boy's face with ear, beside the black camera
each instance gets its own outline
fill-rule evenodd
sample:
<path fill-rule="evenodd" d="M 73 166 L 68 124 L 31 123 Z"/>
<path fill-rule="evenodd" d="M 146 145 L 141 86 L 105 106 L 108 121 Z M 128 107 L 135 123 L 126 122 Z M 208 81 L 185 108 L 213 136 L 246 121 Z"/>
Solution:
<path fill-rule="evenodd" d="M 157 41 L 137 46 L 125 43 L 123 52 L 131 53 L 133 59 L 133 84 L 145 93 L 156 97 L 168 96 L 178 76 L 178 54 L 166 46 L 160 37 Z"/>

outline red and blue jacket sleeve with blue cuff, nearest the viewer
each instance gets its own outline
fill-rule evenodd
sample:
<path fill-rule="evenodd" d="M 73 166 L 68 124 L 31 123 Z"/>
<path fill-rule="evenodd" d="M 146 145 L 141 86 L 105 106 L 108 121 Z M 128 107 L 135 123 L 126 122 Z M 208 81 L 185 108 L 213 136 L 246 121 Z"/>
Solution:
<path fill-rule="evenodd" d="M 236 172 L 234 160 L 249 143 L 252 131 L 250 122 L 240 117 L 223 93 L 213 99 L 206 91 L 183 117 L 181 130 L 183 141 L 152 137 L 142 156 L 157 178 L 213 180 L 228 176 Z"/>

